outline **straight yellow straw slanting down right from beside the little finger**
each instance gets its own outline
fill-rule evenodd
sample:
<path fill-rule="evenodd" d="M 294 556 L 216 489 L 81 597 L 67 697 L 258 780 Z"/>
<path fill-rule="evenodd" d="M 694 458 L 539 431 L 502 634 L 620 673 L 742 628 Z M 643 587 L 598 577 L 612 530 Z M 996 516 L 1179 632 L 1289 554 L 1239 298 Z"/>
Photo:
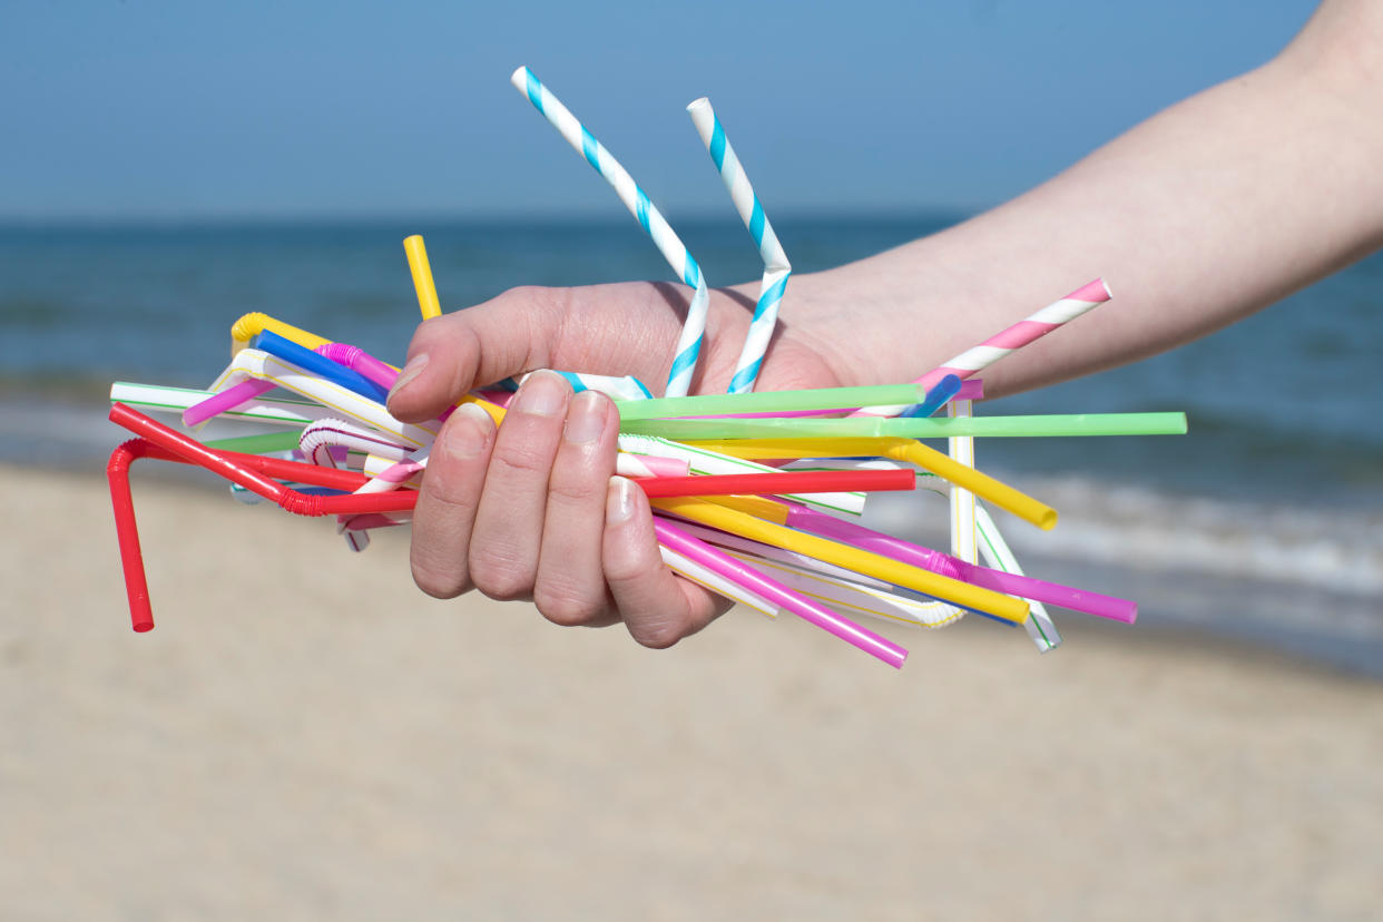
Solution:
<path fill-rule="evenodd" d="M 917 592 L 953 601 L 965 608 L 987 612 L 996 618 L 1015 623 L 1022 623 L 1028 619 L 1028 603 L 1022 599 L 1014 599 L 1012 596 L 972 586 L 958 579 L 950 579 L 949 576 L 904 564 L 892 557 L 874 554 L 859 547 L 851 547 L 849 545 L 841 545 L 826 538 L 784 528 L 783 525 L 774 525 L 773 523 L 755 518 L 748 513 L 727 509 L 726 506 L 694 496 L 654 499 L 651 503 L 658 509 L 690 518 L 703 525 L 719 528 L 721 531 L 763 542 L 765 545 L 773 545 L 783 550 L 816 557 L 828 564 L 845 567 L 846 570 L 882 579 L 895 586 L 916 589 Z"/>

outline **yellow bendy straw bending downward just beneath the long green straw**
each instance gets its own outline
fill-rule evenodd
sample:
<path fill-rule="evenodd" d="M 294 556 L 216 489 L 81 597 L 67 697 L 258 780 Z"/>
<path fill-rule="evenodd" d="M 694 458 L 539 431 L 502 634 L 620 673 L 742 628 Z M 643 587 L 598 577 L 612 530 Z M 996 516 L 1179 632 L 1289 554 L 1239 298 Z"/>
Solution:
<path fill-rule="evenodd" d="M 1050 529 L 1057 524 L 1057 510 L 1047 503 L 1033 499 L 989 474 L 982 474 L 974 467 L 952 460 L 949 455 L 911 438 L 740 438 L 690 441 L 687 445 L 754 460 L 852 458 L 857 455 L 892 458 L 927 469 L 942 480 L 963 487 L 1039 528 Z"/>

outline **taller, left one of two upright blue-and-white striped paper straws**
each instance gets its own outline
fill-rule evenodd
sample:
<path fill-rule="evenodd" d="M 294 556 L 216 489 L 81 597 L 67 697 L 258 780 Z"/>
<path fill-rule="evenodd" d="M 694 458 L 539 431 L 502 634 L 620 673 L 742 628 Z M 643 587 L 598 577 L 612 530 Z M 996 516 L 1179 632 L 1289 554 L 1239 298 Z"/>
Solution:
<path fill-rule="evenodd" d="M 649 195 L 639 188 L 633 177 L 620 166 L 620 162 L 610 155 L 604 147 L 596 141 L 577 116 L 571 115 L 567 106 L 561 105 L 557 97 L 552 95 L 548 87 L 539 83 L 528 68 L 519 68 L 509 77 L 514 87 L 528 97 L 534 108 L 552 123 L 552 127 L 574 147 L 586 162 L 595 167 L 614 188 L 615 195 L 638 218 L 639 224 L 653 238 L 654 246 L 672 267 L 674 272 L 682 275 L 682 281 L 696 289 L 692 304 L 687 308 L 687 319 L 682 325 L 682 335 L 678 337 L 676 352 L 672 358 L 672 370 L 668 373 L 668 386 L 664 391 L 667 397 L 686 397 L 692 388 L 692 375 L 696 372 L 696 362 L 701 354 L 701 339 L 705 332 L 705 312 L 709 304 L 705 279 L 701 276 L 701 267 L 696 264 L 687 247 L 672 231 L 662 214 L 649 200 Z"/>

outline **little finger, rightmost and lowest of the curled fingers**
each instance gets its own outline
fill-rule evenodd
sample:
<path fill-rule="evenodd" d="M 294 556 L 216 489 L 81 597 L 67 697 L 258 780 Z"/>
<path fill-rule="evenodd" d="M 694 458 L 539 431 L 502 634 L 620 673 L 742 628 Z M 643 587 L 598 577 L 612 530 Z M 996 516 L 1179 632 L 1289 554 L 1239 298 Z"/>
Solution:
<path fill-rule="evenodd" d="M 671 647 L 729 608 L 662 565 L 649 499 L 624 477 L 610 478 L 602 553 L 610 594 L 629 634 L 644 647 Z"/>

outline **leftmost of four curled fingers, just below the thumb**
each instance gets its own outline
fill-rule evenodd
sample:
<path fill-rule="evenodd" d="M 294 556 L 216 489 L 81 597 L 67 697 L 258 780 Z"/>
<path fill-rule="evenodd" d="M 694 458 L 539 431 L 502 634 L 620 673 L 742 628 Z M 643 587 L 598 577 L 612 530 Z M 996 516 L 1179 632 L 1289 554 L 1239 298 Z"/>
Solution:
<path fill-rule="evenodd" d="M 409 563 L 429 596 L 454 599 L 470 587 L 466 553 L 495 424 L 483 409 L 463 405 L 441 427 L 414 509 Z"/>

